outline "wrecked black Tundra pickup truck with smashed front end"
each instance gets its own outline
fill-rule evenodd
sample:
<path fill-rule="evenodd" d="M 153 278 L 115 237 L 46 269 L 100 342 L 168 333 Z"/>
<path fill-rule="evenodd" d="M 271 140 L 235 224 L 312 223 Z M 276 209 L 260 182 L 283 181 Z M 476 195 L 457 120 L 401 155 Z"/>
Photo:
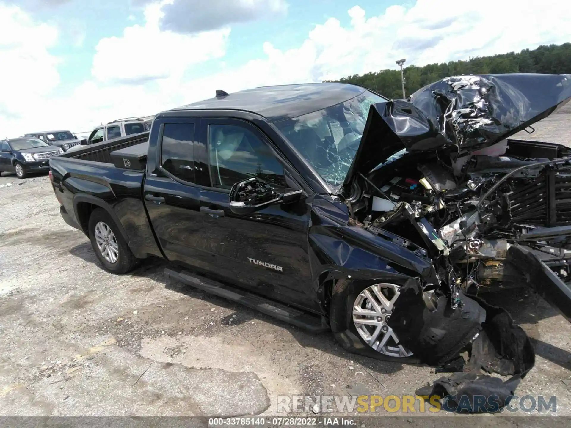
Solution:
<path fill-rule="evenodd" d="M 51 180 L 109 272 L 162 257 L 169 277 L 353 352 L 437 365 L 498 331 L 478 291 L 529 285 L 571 319 L 571 151 L 507 139 L 569 98 L 569 75 L 522 74 L 410 100 L 217 91 L 51 159 Z"/>

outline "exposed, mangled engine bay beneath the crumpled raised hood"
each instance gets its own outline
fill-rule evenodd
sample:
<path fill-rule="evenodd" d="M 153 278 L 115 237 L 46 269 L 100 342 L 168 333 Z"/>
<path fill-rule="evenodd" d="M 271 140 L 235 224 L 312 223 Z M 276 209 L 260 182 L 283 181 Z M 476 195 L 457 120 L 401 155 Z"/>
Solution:
<path fill-rule="evenodd" d="M 524 286 L 510 263 L 510 249 L 522 245 L 545 253 L 553 274 L 569 282 L 571 150 L 534 158 L 536 148 L 506 140 L 460 160 L 403 154 L 363 180 L 353 214 L 369 231 L 429 256 L 428 288 L 445 284 L 457 296 Z M 485 154 L 494 151 L 501 153 Z"/>

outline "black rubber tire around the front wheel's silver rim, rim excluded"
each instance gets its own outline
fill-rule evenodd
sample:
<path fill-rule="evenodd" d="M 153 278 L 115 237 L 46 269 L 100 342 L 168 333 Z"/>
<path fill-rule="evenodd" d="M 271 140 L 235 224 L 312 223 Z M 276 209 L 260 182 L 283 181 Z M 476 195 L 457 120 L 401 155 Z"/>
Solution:
<path fill-rule="evenodd" d="M 393 337 L 394 333 L 392 333 L 392 330 L 388 328 L 388 326 L 384 325 L 384 320 L 381 318 L 383 316 L 386 317 L 387 314 L 390 315 L 390 313 L 384 312 L 383 315 L 378 317 L 383 320 L 383 323 L 378 326 L 381 329 L 379 332 L 376 331 L 377 326 L 367 325 L 367 328 L 370 329 L 372 345 L 363 338 L 363 336 L 367 335 L 367 332 L 362 329 L 363 326 L 360 325 L 361 331 L 359 331 L 355 325 L 355 320 L 353 318 L 360 318 L 361 320 L 366 320 L 367 318 L 362 315 L 356 317 L 353 316 L 355 306 L 357 305 L 360 308 L 362 307 L 363 310 L 370 310 L 368 309 L 368 301 L 363 299 L 364 290 L 376 284 L 384 285 L 388 290 L 397 290 L 399 288 L 398 284 L 387 284 L 388 282 L 389 281 L 381 280 L 338 281 L 333 287 L 331 309 L 329 310 L 331 331 L 333 332 L 337 342 L 339 342 L 339 344 L 349 352 L 361 354 L 370 358 L 376 358 L 377 360 L 402 362 L 406 364 L 420 364 L 420 358 L 415 357 L 411 352 L 408 352 L 408 350 L 400 348 L 399 352 L 398 342 L 395 341 L 396 336 Z M 398 296 L 396 298 L 398 298 Z M 390 299 L 388 298 L 388 300 Z M 375 320 L 377 320 L 377 317 L 371 317 L 371 321 L 374 322 Z M 359 320 L 357 320 L 357 323 L 358 322 Z M 387 330 L 383 331 L 382 329 L 385 327 Z M 376 340 L 373 340 L 372 337 L 375 334 L 377 334 Z M 383 342 L 383 338 L 387 334 L 389 337 Z M 383 345 L 382 348 L 379 345 Z M 378 350 L 373 348 L 373 346 L 378 348 Z M 401 356 L 395 356 L 395 353 L 400 353 Z"/>

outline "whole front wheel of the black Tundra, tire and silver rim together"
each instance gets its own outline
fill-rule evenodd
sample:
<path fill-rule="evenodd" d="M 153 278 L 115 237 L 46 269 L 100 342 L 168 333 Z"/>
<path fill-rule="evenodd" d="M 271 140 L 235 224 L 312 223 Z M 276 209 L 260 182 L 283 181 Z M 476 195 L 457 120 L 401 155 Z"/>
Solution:
<path fill-rule="evenodd" d="M 337 341 L 349 352 L 377 360 L 419 364 L 388 326 L 400 285 L 389 281 L 340 280 L 333 288 L 329 322 Z"/>

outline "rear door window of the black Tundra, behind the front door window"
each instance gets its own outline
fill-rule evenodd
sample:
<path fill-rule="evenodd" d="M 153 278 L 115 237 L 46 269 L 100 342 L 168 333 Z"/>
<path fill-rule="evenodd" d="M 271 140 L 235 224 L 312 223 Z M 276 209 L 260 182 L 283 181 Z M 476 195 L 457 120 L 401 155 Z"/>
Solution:
<path fill-rule="evenodd" d="M 162 168 L 179 180 L 195 182 L 194 123 L 165 123 L 161 144 Z"/>

